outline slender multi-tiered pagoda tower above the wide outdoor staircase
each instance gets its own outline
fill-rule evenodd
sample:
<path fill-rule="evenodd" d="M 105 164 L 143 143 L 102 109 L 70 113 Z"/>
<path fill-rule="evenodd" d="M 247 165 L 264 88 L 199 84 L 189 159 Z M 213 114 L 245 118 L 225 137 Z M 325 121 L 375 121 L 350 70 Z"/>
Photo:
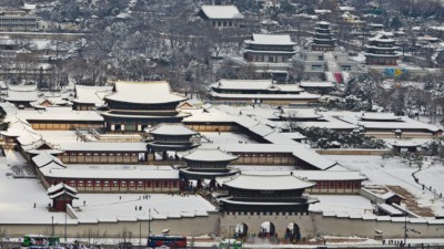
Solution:
<path fill-rule="evenodd" d="M 336 46 L 336 39 L 333 38 L 333 31 L 330 22 L 317 22 L 314 28 L 314 38 L 312 50 L 314 51 L 333 51 Z"/>

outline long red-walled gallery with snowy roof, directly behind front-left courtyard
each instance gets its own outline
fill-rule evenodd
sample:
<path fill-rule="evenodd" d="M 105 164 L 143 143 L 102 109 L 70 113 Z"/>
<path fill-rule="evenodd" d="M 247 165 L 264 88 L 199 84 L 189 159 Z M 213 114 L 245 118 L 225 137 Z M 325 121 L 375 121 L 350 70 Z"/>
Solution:
<path fill-rule="evenodd" d="M 32 162 L 46 188 L 63 183 L 80 193 L 173 193 L 180 189 L 179 170 L 170 166 L 65 165 L 46 153 L 32 157 Z"/>

